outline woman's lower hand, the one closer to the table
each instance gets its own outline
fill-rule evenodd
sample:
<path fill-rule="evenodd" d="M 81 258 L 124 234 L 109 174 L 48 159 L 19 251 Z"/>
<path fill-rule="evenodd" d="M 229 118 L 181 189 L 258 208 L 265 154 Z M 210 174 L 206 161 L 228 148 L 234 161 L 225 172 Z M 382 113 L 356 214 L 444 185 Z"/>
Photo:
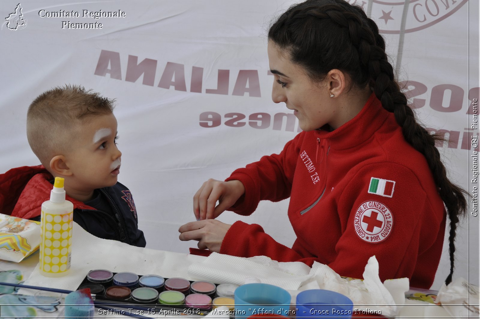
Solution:
<path fill-rule="evenodd" d="M 217 220 L 191 221 L 180 226 L 180 240 L 198 240 L 198 248 L 208 248 L 216 253 L 220 252 L 220 247 L 228 229 L 231 227 Z"/>

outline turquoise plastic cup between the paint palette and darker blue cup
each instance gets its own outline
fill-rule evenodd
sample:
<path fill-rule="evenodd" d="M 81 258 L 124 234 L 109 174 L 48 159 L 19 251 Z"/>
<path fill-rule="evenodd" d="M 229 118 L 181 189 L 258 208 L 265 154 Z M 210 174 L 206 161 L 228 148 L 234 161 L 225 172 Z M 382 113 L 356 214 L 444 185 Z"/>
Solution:
<path fill-rule="evenodd" d="M 235 317 L 255 314 L 288 314 L 291 296 L 283 288 L 267 283 L 247 283 L 235 289 Z"/>

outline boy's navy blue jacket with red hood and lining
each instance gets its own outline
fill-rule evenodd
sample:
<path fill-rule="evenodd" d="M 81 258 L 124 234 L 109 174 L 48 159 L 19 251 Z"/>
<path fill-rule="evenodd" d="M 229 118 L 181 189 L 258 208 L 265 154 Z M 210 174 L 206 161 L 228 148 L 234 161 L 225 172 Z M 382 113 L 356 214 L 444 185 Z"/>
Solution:
<path fill-rule="evenodd" d="M 17 167 L 0 174 L 0 212 L 39 221 L 41 205 L 50 199 L 52 180 L 53 176 L 42 165 Z M 67 196 L 66 199 L 73 203 L 73 221 L 96 237 L 145 247 L 130 190 L 117 183 L 98 191 L 107 199 L 111 212 Z"/>

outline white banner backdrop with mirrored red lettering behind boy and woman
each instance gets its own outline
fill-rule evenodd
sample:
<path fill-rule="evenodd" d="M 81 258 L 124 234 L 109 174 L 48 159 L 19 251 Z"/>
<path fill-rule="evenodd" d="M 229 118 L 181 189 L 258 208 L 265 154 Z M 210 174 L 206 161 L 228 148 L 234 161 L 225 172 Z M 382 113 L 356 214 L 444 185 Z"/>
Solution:
<path fill-rule="evenodd" d="M 132 190 L 147 247 L 188 252 L 196 242 L 180 242 L 178 228 L 194 220 L 202 183 L 278 153 L 298 132 L 285 105 L 271 100 L 266 54 L 269 23 L 293 2 L 2 1 L 0 173 L 39 164 L 25 120 L 40 93 L 78 84 L 116 98 L 119 181 Z M 448 140 L 438 147 L 449 176 L 472 195 L 455 277 L 478 284 L 479 2 L 349 2 L 377 22 L 420 119 Z M 250 217 L 225 212 L 219 220 L 259 223 L 291 245 L 287 207 L 264 202 Z M 447 250 L 436 289 L 449 272 Z"/>

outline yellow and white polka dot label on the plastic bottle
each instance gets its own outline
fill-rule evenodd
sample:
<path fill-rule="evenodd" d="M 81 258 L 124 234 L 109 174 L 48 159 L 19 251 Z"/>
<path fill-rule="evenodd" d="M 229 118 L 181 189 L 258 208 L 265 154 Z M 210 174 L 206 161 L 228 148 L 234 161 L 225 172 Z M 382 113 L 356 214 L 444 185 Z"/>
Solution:
<path fill-rule="evenodd" d="M 42 210 L 40 243 L 40 270 L 61 274 L 72 262 L 73 212 L 48 214 Z"/>

